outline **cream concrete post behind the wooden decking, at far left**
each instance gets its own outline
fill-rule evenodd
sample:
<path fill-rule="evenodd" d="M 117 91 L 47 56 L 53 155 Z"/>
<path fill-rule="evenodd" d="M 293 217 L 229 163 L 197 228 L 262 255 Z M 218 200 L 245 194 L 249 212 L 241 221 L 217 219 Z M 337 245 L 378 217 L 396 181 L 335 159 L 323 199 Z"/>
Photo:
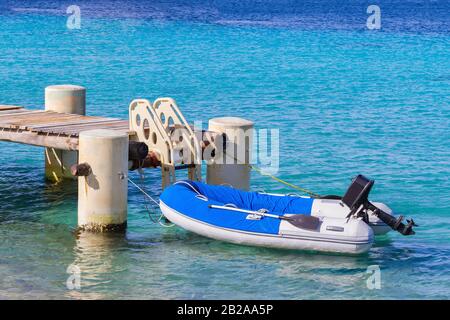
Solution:
<path fill-rule="evenodd" d="M 45 88 L 45 110 L 60 113 L 86 114 L 86 89 L 74 85 Z M 45 149 L 45 176 L 52 181 L 75 179 L 70 167 L 78 162 L 78 152 Z"/>

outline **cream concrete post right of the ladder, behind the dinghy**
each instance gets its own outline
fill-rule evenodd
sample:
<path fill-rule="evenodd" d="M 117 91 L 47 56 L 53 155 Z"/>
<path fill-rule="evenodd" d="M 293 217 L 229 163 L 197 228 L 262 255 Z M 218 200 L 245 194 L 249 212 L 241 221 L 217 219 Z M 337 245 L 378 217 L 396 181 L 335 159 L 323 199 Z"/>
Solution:
<path fill-rule="evenodd" d="M 235 117 L 214 118 L 209 120 L 208 130 L 225 134 L 226 143 L 225 154 L 216 145 L 215 157 L 207 166 L 207 183 L 249 190 L 253 122 Z"/>

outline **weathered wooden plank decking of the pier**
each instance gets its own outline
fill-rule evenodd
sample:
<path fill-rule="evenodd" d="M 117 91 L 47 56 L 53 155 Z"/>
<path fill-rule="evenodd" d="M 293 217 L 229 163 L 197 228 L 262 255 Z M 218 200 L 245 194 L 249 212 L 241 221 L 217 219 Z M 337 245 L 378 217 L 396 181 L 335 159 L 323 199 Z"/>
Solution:
<path fill-rule="evenodd" d="M 128 120 L 0 105 L 0 140 L 77 150 L 80 132 L 92 129 L 110 129 L 133 134 L 129 130 Z"/>

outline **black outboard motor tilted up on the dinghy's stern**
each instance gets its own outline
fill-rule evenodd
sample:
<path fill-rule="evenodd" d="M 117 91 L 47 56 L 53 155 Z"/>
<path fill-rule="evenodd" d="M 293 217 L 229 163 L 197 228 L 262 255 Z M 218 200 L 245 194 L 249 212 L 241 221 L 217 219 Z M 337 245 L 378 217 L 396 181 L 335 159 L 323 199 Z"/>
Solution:
<path fill-rule="evenodd" d="M 346 205 L 350 208 L 350 213 L 347 218 L 355 215 L 357 217 L 362 217 L 364 221 L 368 223 L 367 211 L 370 210 L 393 230 L 398 231 L 405 236 L 415 234 L 413 227 L 417 225 L 414 223 L 413 219 L 406 220 L 407 224 L 404 224 L 403 216 L 396 218 L 380 208 L 377 208 L 369 201 L 369 193 L 374 183 L 374 180 L 370 180 L 363 175 L 358 175 L 353 179 L 352 184 L 341 200 L 342 205 Z"/>

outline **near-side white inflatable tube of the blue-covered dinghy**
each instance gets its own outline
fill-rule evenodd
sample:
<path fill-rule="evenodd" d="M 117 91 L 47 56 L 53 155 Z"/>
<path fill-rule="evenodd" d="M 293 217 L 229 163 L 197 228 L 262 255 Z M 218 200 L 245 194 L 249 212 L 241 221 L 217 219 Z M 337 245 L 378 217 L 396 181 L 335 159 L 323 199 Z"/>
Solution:
<path fill-rule="evenodd" d="M 320 230 L 316 231 L 300 229 L 282 221 L 279 234 L 264 234 L 211 225 L 177 212 L 162 201 L 160 208 L 168 220 L 181 228 L 235 244 L 359 254 L 368 251 L 373 243 L 373 230 L 362 220 L 354 218 L 347 221 L 341 217 L 321 217 Z"/>

